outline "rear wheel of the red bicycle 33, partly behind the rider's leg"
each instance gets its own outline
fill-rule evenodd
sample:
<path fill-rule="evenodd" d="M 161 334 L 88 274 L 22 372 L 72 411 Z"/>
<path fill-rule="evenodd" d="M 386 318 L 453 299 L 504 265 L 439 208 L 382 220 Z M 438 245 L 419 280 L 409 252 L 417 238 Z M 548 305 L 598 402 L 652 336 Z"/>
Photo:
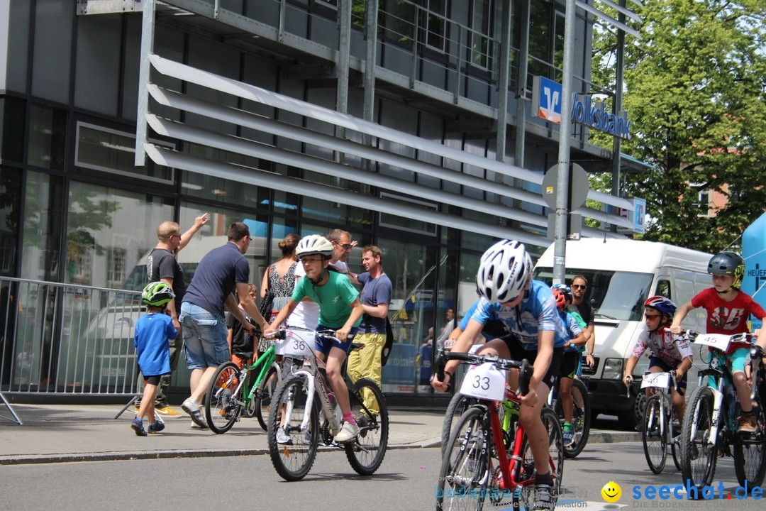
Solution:
<path fill-rule="evenodd" d="M 558 415 L 551 408 L 544 406 L 540 412 L 542 424 L 545 431 L 548 432 L 548 457 L 553 479 L 552 495 L 555 506 L 558 495 L 561 494 L 561 478 L 564 477 L 564 438 L 561 434 L 561 424 L 558 422 Z M 519 462 L 519 474 L 516 477 L 517 483 L 534 480 L 536 474 L 535 458 L 532 457 L 532 447 L 529 445 L 529 437 L 526 432 L 522 437 L 522 460 Z M 520 491 L 513 492 L 513 509 L 532 509 L 535 501 L 534 483 L 521 487 Z"/>

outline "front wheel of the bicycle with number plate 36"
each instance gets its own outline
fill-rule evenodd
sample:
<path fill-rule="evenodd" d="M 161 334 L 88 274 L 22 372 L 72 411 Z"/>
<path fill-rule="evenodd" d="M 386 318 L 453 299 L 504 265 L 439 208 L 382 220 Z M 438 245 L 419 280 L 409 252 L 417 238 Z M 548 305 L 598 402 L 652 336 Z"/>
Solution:
<path fill-rule="evenodd" d="M 293 375 L 282 380 L 273 397 L 267 436 L 271 463 L 284 480 L 306 477 L 316 458 L 319 445 L 319 400 L 307 395 L 306 375 Z M 307 428 L 301 431 L 307 405 L 311 411 Z"/>

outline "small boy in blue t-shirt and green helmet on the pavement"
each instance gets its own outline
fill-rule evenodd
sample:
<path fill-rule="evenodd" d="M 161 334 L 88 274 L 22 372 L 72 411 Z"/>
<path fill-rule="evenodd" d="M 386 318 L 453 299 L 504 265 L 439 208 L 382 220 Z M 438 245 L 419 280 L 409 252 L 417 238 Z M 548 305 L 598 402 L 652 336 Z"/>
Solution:
<path fill-rule="evenodd" d="M 136 337 L 133 346 L 139 359 L 139 368 L 146 385 L 136 418 L 130 427 L 139 437 L 146 437 L 143 427 L 144 414 L 149 415 L 149 433 L 158 433 L 165 424 L 155 422 L 154 398 L 162 375 L 170 374 L 170 343 L 178 337 L 173 320 L 165 314 L 168 303 L 175 298 L 173 290 L 164 282 L 152 282 L 144 287 L 141 301 L 146 305 L 146 314 L 136 321 Z"/>

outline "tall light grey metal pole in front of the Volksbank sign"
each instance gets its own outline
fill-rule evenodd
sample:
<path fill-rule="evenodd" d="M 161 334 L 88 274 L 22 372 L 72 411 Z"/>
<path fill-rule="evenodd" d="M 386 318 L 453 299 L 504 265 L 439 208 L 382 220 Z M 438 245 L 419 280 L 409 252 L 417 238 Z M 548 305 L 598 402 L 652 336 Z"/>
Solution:
<path fill-rule="evenodd" d="M 567 0 L 564 28 L 564 78 L 561 82 L 561 126 L 558 129 L 558 182 L 553 246 L 553 283 L 564 283 L 569 198 L 569 137 L 571 136 L 572 73 L 575 49 L 575 0 Z"/>

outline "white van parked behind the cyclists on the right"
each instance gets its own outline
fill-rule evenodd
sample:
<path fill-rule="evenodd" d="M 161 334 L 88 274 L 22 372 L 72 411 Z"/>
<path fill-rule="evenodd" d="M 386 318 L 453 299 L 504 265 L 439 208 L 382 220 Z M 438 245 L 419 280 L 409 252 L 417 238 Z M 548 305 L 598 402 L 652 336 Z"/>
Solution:
<path fill-rule="evenodd" d="M 551 245 L 537 261 L 535 279 L 552 283 L 553 253 Z M 707 273 L 710 257 L 651 241 L 601 238 L 567 241 L 566 283 L 571 283 L 575 275 L 588 279 L 585 299 L 595 314 L 596 365 L 594 369 L 583 367 L 583 375 L 589 377 L 594 413 L 617 415 L 627 427 L 640 421 L 643 393 L 637 392 L 636 382 L 627 398 L 622 375 L 638 334 L 645 328 L 643 302 L 654 295 L 666 296 L 677 306 L 691 300 L 712 285 Z M 704 332 L 705 311 L 692 310 L 682 326 Z M 644 355 L 633 374 L 643 375 L 648 364 Z"/>

